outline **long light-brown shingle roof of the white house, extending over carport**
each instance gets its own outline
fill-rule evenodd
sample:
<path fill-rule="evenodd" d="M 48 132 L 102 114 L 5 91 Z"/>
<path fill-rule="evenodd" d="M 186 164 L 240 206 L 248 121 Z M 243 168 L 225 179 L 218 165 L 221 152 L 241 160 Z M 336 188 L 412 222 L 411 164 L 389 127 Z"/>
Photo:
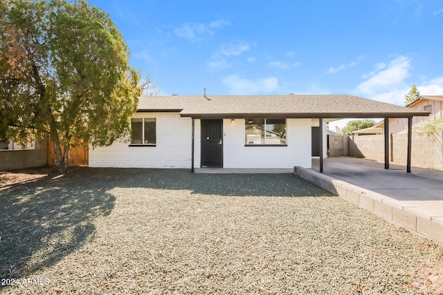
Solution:
<path fill-rule="evenodd" d="M 179 111 L 182 117 L 411 117 L 413 108 L 352 95 L 143 96 L 138 111 Z"/>

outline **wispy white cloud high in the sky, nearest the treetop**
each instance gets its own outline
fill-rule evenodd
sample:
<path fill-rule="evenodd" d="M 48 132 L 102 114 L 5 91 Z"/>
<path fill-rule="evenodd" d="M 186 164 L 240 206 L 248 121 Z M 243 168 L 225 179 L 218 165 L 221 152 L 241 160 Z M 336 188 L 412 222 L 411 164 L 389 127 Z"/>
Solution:
<path fill-rule="evenodd" d="M 208 24 L 205 23 L 183 23 L 181 26 L 174 28 L 177 37 L 186 39 L 188 41 L 197 42 L 205 35 L 213 35 L 215 29 L 221 29 L 225 26 L 230 26 L 229 21 L 219 19 Z"/>

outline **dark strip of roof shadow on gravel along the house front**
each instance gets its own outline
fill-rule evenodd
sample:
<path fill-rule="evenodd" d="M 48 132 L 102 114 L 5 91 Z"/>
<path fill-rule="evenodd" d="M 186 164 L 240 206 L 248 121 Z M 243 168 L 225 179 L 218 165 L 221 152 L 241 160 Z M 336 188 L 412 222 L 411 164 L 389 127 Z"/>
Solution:
<path fill-rule="evenodd" d="M 188 169 L 85 168 L 101 175 L 101 181 L 114 187 L 190 190 L 217 196 L 334 196 L 297 175 L 287 174 L 204 174 Z"/>

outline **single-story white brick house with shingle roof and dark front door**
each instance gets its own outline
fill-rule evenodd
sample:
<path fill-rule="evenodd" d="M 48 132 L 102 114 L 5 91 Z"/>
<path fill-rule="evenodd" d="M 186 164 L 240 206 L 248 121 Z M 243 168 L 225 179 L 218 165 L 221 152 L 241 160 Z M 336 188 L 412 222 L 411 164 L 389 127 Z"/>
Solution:
<path fill-rule="evenodd" d="M 132 135 L 89 150 L 91 167 L 293 168 L 320 171 L 326 124 L 347 117 L 428 115 L 352 95 L 192 95 L 140 97 Z M 314 151 L 316 147 L 316 151 Z"/>

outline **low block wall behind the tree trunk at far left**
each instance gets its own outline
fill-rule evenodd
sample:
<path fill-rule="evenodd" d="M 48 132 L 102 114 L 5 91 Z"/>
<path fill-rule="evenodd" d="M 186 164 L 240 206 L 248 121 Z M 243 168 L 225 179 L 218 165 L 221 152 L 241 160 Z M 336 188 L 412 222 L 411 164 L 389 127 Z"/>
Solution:
<path fill-rule="evenodd" d="M 48 140 L 37 140 L 35 149 L 1 150 L 0 171 L 46 166 L 48 164 Z"/>

